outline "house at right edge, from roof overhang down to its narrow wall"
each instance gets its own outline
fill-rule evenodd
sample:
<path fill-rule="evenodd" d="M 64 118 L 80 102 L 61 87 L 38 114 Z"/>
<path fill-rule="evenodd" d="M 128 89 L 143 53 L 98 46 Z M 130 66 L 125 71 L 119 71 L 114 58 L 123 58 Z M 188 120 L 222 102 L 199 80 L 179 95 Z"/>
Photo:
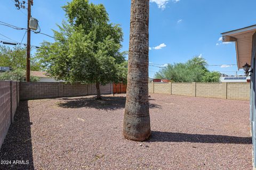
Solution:
<path fill-rule="evenodd" d="M 235 42 L 238 69 L 251 77 L 250 125 L 253 143 L 253 169 L 256 169 L 256 25 L 222 33 L 223 42 Z"/>

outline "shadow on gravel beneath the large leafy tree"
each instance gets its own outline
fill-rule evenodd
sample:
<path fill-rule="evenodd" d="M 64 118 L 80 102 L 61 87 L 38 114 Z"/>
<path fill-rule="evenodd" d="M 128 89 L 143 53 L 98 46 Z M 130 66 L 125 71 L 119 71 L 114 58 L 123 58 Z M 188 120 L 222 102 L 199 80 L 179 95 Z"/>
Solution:
<path fill-rule="evenodd" d="M 125 107 L 125 99 L 123 96 L 105 97 L 102 100 L 96 100 L 95 97 L 81 97 L 81 98 L 61 98 L 57 103 L 62 108 L 96 108 L 103 110 L 116 110 Z M 160 108 L 157 104 L 149 104 L 150 108 Z"/>

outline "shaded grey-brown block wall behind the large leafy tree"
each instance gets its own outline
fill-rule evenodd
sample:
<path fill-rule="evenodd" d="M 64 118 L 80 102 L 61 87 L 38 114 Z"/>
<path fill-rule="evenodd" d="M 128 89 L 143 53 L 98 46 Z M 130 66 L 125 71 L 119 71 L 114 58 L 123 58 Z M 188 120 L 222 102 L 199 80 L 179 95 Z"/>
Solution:
<path fill-rule="evenodd" d="M 100 86 L 102 95 L 111 94 L 113 86 L 107 84 Z M 62 82 L 21 82 L 20 83 L 20 99 L 43 99 L 58 97 L 76 97 L 96 95 L 95 84 L 69 84 Z"/>

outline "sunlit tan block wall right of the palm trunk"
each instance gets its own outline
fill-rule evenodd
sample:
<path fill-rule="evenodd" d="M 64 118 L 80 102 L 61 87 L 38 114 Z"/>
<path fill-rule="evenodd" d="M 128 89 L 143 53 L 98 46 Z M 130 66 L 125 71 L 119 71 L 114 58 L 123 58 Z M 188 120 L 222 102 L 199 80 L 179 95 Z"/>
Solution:
<path fill-rule="evenodd" d="M 148 84 L 149 93 L 234 100 L 250 100 L 250 83 L 160 83 Z"/>

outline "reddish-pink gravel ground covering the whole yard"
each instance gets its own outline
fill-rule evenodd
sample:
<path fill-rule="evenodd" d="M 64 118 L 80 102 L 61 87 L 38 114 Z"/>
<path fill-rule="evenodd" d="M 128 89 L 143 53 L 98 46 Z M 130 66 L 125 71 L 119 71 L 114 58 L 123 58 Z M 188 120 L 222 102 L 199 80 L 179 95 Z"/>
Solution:
<path fill-rule="evenodd" d="M 125 95 L 21 101 L 0 160 L 25 165 L 0 169 L 252 169 L 249 101 L 153 94 L 145 142 L 123 138 L 124 105 Z"/>

